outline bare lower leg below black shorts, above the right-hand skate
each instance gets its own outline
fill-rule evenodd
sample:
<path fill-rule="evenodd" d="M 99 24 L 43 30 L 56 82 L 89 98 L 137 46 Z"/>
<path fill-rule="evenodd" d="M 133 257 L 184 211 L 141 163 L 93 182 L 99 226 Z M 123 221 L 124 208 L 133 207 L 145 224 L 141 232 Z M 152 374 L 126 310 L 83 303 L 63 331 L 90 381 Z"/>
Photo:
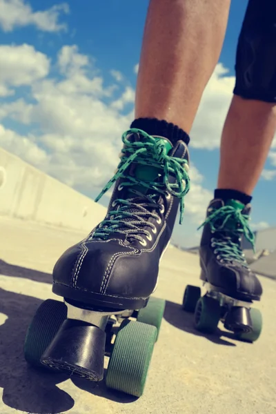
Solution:
<path fill-rule="evenodd" d="M 252 194 L 275 130 L 275 103 L 233 97 L 221 137 L 218 188 Z"/>

